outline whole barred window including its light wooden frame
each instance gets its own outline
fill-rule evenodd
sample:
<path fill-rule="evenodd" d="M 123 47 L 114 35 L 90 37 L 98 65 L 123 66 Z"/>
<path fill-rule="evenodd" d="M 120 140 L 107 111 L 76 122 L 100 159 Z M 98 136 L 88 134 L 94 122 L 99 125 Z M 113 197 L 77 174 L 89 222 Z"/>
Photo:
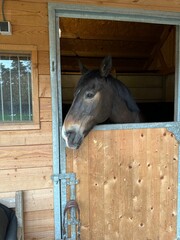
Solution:
<path fill-rule="evenodd" d="M 39 128 L 37 49 L 0 47 L 0 129 Z"/>

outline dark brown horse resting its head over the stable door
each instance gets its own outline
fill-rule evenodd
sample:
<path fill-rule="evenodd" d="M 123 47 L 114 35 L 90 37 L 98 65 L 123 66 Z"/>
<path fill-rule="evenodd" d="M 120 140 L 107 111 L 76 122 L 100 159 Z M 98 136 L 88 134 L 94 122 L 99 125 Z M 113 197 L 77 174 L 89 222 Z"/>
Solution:
<path fill-rule="evenodd" d="M 107 120 L 141 122 L 140 110 L 129 89 L 110 74 L 111 56 L 102 60 L 99 69 L 88 70 L 82 63 L 79 66 L 82 76 L 62 126 L 62 138 L 68 148 L 78 149 L 91 129 Z"/>

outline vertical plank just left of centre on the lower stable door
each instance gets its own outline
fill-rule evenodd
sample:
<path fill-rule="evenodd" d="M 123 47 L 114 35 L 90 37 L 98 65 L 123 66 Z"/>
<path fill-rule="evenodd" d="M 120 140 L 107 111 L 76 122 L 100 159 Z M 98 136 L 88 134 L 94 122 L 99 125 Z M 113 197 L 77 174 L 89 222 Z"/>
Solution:
<path fill-rule="evenodd" d="M 104 132 L 104 235 L 106 240 L 120 239 L 119 232 L 119 135 Z"/>

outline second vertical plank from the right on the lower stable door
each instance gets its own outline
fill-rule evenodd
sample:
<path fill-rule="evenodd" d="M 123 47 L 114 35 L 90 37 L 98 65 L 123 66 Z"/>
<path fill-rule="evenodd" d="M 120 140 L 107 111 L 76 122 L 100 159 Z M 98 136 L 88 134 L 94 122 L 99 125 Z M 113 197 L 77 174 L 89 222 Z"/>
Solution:
<path fill-rule="evenodd" d="M 147 237 L 155 239 L 159 236 L 159 151 L 160 135 L 159 130 L 147 129 Z"/>

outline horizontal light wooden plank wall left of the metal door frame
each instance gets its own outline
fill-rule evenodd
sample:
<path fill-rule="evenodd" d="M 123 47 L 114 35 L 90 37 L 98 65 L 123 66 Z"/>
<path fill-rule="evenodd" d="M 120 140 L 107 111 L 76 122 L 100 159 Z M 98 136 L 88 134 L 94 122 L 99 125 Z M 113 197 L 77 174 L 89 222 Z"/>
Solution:
<path fill-rule="evenodd" d="M 47 3 L 5 1 L 5 14 L 13 34 L 0 35 L 0 45 L 35 45 L 38 49 L 40 129 L 1 131 L 0 197 L 23 190 L 25 239 L 50 240 L 54 239 L 54 216 Z"/>

